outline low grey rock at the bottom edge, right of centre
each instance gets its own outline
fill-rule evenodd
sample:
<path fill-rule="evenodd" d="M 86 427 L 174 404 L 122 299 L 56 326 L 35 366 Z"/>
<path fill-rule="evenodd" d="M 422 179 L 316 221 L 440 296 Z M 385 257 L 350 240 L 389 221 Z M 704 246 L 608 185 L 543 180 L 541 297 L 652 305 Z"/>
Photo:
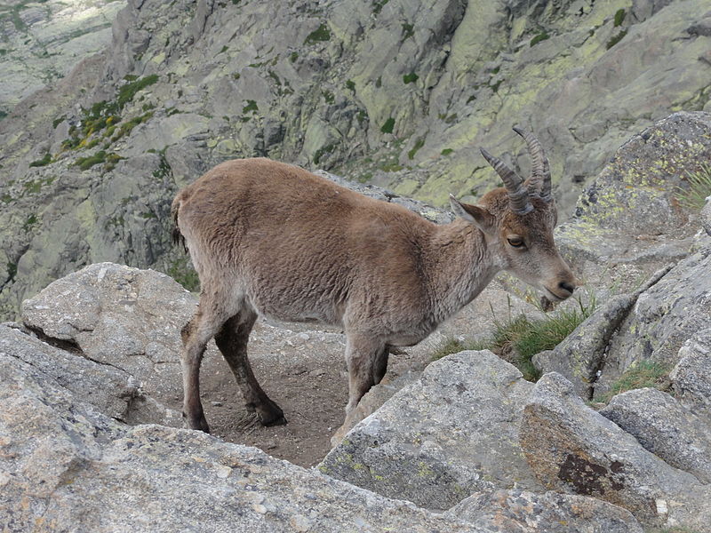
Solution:
<path fill-rule="evenodd" d="M 497 533 L 642 533 L 635 517 L 594 497 L 498 489 L 459 502 L 447 514 Z"/>

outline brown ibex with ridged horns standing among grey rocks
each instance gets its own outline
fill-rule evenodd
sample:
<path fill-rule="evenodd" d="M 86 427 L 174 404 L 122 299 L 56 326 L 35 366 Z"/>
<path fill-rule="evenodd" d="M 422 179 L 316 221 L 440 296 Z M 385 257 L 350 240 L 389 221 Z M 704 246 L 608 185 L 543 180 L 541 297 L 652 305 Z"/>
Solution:
<path fill-rule="evenodd" d="M 537 139 L 514 129 L 531 153 L 531 177 L 524 182 L 482 149 L 506 187 L 477 205 L 451 196 L 459 219 L 443 226 L 263 158 L 221 163 L 181 190 L 174 236 L 184 239 L 201 284 L 198 311 L 182 330 L 188 426 L 209 431 L 199 370 L 212 337 L 247 409 L 265 426 L 285 422 L 247 359 L 258 314 L 343 328 L 348 413 L 385 374 L 391 346 L 426 338 L 499 270 L 551 300 L 571 296 L 576 280 L 553 240 L 547 158 Z"/>

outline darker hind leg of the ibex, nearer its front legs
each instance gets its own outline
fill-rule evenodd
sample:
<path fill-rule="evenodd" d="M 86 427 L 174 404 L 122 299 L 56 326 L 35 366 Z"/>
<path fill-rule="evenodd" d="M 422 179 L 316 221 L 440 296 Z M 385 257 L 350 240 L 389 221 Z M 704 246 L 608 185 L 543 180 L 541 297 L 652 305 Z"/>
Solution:
<path fill-rule="evenodd" d="M 225 322 L 215 336 L 215 342 L 235 375 L 247 410 L 256 412 L 263 426 L 286 424 L 284 411 L 262 390 L 247 358 L 247 342 L 256 320 L 257 314 L 244 306 L 242 311 Z"/>

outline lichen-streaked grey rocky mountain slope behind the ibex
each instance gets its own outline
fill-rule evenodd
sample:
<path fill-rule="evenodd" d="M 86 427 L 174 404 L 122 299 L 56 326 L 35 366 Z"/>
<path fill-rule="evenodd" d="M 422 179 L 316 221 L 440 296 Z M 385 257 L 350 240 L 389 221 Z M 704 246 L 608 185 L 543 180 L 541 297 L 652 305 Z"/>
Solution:
<path fill-rule="evenodd" d="M 566 211 L 619 143 L 708 109 L 706 0 L 131 0 L 105 52 L 0 121 L 0 314 L 92 262 L 184 280 L 177 188 L 268 155 L 442 205 L 547 147 Z M 30 26 L 34 28 L 34 25 Z"/>

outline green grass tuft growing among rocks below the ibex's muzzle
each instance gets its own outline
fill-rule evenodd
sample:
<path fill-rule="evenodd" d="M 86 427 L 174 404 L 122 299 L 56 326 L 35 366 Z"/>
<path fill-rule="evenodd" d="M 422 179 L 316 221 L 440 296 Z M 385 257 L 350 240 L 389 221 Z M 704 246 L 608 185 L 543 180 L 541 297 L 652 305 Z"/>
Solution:
<path fill-rule="evenodd" d="M 523 378 L 537 381 L 540 372 L 531 359 L 544 350 L 552 350 L 568 337 L 580 323 L 595 311 L 595 297 L 588 293 L 588 303 L 578 298 L 578 306 L 559 308 L 546 318 L 531 320 L 524 314 L 509 317 L 506 322 L 494 321 L 491 337 L 473 343 L 449 340 L 438 348 L 433 359 L 462 350 L 491 350 L 494 354 L 512 362 L 523 373 Z"/>

